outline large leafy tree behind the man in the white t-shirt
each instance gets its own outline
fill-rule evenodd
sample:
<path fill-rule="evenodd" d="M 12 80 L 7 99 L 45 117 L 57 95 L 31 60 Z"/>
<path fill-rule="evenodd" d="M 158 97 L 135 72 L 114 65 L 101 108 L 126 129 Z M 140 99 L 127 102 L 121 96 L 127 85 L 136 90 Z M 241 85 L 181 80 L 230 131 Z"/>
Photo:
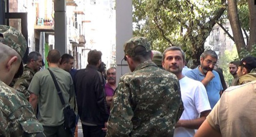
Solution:
<path fill-rule="evenodd" d="M 133 35 L 145 36 L 153 49 L 181 46 L 199 65 L 204 43 L 226 9 L 225 0 L 133 0 Z M 214 6 L 213 6 L 214 5 Z"/>

